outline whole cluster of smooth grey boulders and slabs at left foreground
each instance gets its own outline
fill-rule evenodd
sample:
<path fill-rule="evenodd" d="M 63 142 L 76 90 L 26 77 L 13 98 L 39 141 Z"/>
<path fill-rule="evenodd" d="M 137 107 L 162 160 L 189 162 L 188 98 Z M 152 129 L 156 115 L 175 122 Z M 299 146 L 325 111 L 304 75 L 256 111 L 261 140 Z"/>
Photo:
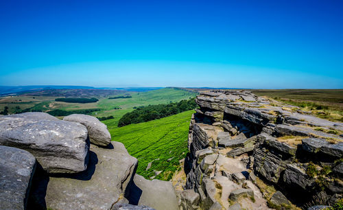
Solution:
<path fill-rule="evenodd" d="M 135 175 L 95 117 L 1 116 L 0 155 L 0 209 L 178 209 L 171 183 Z"/>

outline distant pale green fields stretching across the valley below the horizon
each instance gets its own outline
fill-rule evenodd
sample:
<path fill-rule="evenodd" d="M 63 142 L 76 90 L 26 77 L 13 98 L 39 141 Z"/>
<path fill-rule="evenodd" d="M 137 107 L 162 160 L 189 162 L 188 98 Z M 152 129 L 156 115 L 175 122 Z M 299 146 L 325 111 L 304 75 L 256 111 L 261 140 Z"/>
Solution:
<path fill-rule="evenodd" d="M 96 95 L 96 91 L 91 91 L 90 93 L 87 93 L 87 97 L 96 97 L 97 99 L 99 99 L 99 101 L 94 103 L 81 104 L 56 102 L 55 99 L 60 97 L 56 92 L 58 91 L 54 91 L 54 95 L 56 96 L 16 95 L 1 97 L 0 111 L 3 110 L 5 106 L 8 106 L 9 114 L 13 114 L 16 111 L 16 106 L 19 106 L 21 110 L 24 110 L 25 108 L 33 108 L 34 110 L 38 109 L 44 112 L 56 109 L 80 110 L 100 108 L 100 111 L 93 112 L 91 113 L 91 115 L 95 117 L 107 117 L 112 115 L 113 117 L 115 117 L 115 119 L 113 119 L 112 121 L 112 125 L 117 125 L 121 116 L 134 110 L 134 107 L 147 106 L 149 104 L 168 104 L 169 102 L 179 102 L 180 100 L 187 100 L 190 97 L 195 97 L 197 95 L 197 93 L 194 91 L 186 91 L 176 88 L 165 88 L 140 93 L 126 91 L 124 93 L 121 93 L 121 95 L 131 95 L 132 97 L 108 99 L 108 97 L 114 95 L 106 95 L 105 97 L 105 95 Z M 61 94 L 64 94 L 64 92 L 61 91 Z M 119 95 L 117 94 L 115 96 Z"/>

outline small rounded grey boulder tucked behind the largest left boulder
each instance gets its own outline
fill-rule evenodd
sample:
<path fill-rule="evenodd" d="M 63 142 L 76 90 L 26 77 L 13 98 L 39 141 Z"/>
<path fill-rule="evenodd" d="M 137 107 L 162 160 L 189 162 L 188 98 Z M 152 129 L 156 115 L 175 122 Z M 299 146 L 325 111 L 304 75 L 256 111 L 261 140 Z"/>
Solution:
<path fill-rule="evenodd" d="M 106 146 L 110 143 L 110 132 L 108 132 L 107 126 L 99 121 L 97 117 L 73 114 L 64 117 L 63 120 L 75 121 L 86 126 L 89 139 L 95 145 Z"/>

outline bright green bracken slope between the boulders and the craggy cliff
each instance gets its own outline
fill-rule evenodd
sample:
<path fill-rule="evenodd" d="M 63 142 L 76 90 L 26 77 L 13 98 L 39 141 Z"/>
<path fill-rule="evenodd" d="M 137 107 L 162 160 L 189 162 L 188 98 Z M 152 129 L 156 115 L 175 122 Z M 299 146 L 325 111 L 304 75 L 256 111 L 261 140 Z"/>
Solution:
<path fill-rule="evenodd" d="M 103 122 L 108 126 L 112 140 L 122 142 L 128 152 L 139 160 L 138 174 L 150 178 L 155 175 L 154 170 L 163 171 L 156 178 L 169 180 L 180 168 L 179 160 L 187 154 L 187 137 L 192 113 L 194 111 L 189 110 L 163 119 L 121 128 L 113 124 L 113 119 Z M 168 159 L 171 161 L 167 161 Z M 146 171 L 147 164 L 151 161 L 154 161 L 152 167 Z"/>

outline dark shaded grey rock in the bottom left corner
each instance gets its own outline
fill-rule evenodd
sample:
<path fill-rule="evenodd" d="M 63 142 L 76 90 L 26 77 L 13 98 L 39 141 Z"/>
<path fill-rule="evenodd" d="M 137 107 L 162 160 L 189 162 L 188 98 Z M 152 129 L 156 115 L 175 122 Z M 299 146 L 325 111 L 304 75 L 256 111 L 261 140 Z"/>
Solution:
<path fill-rule="evenodd" d="M 0 209 L 25 209 L 36 159 L 25 150 L 0 145 Z"/>

